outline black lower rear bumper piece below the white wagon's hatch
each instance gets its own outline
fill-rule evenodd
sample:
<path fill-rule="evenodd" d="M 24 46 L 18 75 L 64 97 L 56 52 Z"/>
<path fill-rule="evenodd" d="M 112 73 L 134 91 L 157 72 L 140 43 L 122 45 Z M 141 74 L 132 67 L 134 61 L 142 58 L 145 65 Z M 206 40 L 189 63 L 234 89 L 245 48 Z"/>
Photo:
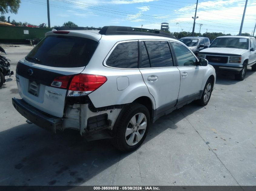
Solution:
<path fill-rule="evenodd" d="M 62 118 L 46 115 L 22 99 L 12 98 L 12 105 L 22 116 L 43 129 L 56 133 L 56 129 L 62 127 Z"/>

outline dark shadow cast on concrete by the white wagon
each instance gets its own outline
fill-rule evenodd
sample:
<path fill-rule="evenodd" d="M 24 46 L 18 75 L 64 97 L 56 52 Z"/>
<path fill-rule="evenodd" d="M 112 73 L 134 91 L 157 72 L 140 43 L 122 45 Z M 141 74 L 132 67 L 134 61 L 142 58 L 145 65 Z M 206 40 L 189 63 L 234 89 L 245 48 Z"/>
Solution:
<path fill-rule="evenodd" d="M 150 126 L 143 144 L 201 107 L 190 103 L 162 116 Z M 86 142 L 78 131 L 52 134 L 34 124 L 22 124 L 0 132 L 1 186 L 78 186 L 99 173 L 109 171 L 105 184 L 111 185 L 116 165 L 133 152 L 122 153 L 111 145 L 111 139 Z M 106 183 L 107 182 L 107 183 Z M 102 185 L 102 182 L 88 182 Z"/>

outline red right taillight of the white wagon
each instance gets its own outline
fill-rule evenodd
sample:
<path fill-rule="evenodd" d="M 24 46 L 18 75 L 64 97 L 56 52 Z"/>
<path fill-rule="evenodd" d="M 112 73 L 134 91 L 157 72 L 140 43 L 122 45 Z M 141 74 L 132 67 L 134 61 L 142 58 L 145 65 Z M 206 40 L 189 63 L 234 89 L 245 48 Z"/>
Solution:
<path fill-rule="evenodd" d="M 68 82 L 72 78 L 69 87 Z M 52 86 L 58 88 L 67 88 L 67 96 L 84 96 L 98 89 L 107 81 L 105 76 L 92 74 L 78 74 L 56 77 Z"/>

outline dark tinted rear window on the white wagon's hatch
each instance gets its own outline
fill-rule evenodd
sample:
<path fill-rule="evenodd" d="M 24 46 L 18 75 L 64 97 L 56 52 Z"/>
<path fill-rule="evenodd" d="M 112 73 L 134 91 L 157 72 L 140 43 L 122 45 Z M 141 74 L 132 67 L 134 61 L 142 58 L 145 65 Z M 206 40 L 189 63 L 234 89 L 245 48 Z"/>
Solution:
<path fill-rule="evenodd" d="M 48 36 L 38 43 L 25 59 L 52 67 L 83 67 L 88 64 L 97 46 L 98 42 L 91 39 Z"/>

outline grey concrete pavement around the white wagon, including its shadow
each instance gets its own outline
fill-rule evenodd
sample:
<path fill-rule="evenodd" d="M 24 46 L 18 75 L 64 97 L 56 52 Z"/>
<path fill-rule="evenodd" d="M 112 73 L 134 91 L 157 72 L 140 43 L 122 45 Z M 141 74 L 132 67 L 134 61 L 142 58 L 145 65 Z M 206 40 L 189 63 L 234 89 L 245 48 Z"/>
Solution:
<path fill-rule="evenodd" d="M 18 45 L 19 46 L 19 45 Z M 31 46 L 7 47 L 12 70 Z M 1 55 L 3 55 L 1 53 Z M 217 75 L 206 107 L 191 103 L 151 125 L 137 151 L 25 123 L 0 89 L 0 185 L 256 185 L 256 73 Z M 209 144 L 206 144 L 209 142 Z"/>

